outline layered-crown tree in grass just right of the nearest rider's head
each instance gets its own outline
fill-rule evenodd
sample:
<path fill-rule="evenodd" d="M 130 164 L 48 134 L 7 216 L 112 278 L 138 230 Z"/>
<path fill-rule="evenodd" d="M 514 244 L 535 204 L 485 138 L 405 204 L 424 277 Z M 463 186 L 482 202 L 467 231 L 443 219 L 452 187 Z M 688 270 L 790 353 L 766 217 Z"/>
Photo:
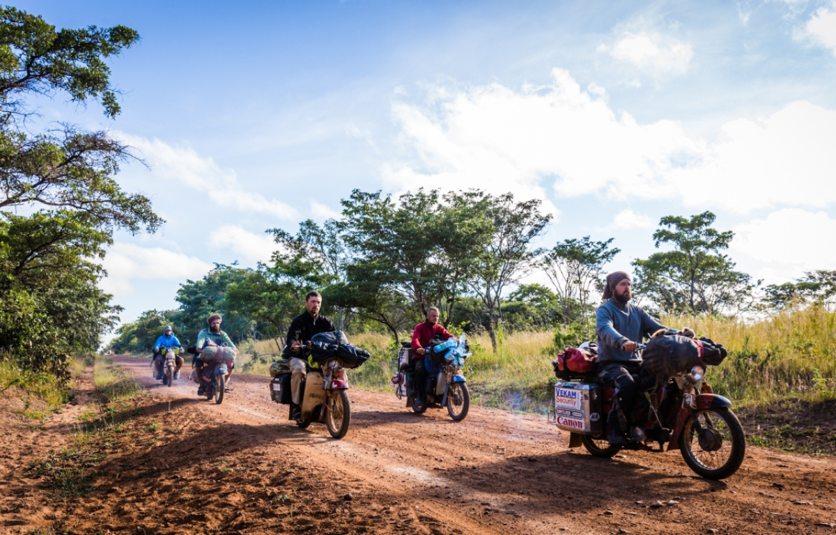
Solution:
<path fill-rule="evenodd" d="M 746 273 L 722 253 L 734 232 L 712 228 L 710 211 L 691 218 L 667 216 L 653 234 L 655 247 L 670 245 L 633 262 L 635 293 L 647 296 L 668 312 L 722 313 L 750 298 L 754 284 Z"/>

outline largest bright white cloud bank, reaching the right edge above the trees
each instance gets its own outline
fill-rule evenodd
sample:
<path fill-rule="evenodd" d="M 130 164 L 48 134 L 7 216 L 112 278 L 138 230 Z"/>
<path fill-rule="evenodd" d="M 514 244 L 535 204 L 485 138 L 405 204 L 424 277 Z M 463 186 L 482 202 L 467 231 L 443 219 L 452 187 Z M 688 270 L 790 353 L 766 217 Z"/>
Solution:
<path fill-rule="evenodd" d="M 738 213 L 836 202 L 836 111 L 795 102 L 728 122 L 708 144 L 675 121 L 616 114 L 565 70 L 553 79 L 519 90 L 436 87 L 429 104 L 395 103 L 401 141 L 416 156 L 383 166 L 384 181 L 544 201 L 550 182 L 559 196 L 679 199 Z"/>

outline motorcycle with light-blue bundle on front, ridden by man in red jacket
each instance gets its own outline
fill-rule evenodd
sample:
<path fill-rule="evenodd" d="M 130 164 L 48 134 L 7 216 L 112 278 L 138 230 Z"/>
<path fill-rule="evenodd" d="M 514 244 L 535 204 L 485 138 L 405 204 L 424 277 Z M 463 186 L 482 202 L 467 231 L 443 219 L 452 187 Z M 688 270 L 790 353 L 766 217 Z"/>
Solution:
<path fill-rule="evenodd" d="M 426 390 L 424 405 L 415 405 L 418 385 L 412 347 L 409 342 L 404 342 L 398 353 L 398 373 L 392 378 L 395 396 L 399 400 L 406 397 L 406 406 L 415 414 L 424 414 L 429 407 L 446 407 L 453 421 L 464 420 L 470 409 L 470 393 L 461 369 L 465 360 L 472 355 L 469 349 L 464 334 L 458 342 L 455 339 L 446 342 L 433 340 L 431 346 L 425 349 L 430 387 Z"/>

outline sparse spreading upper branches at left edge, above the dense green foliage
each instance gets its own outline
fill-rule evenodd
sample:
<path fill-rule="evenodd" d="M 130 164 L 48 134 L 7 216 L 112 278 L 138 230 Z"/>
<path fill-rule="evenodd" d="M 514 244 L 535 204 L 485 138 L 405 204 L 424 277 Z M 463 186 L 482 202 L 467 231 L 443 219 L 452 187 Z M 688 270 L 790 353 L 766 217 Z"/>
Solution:
<path fill-rule="evenodd" d="M 138 39 L 124 26 L 56 31 L 43 18 L 0 9 L 0 210 L 40 205 L 84 211 L 99 226 L 130 232 L 161 225 L 145 196 L 125 193 L 113 178 L 130 157 L 125 145 L 73 125 L 35 135 L 28 130 L 31 94 L 65 91 L 79 104 L 98 101 L 110 118 L 119 114 L 104 59 Z"/>

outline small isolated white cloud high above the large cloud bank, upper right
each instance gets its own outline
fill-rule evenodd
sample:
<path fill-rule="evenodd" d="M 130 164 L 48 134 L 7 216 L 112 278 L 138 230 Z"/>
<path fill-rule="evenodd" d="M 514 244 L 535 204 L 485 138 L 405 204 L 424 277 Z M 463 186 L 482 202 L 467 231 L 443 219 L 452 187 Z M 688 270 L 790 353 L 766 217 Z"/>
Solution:
<path fill-rule="evenodd" d="M 645 74 L 683 74 L 694 57 L 691 45 L 661 33 L 624 32 L 611 46 L 599 48 Z"/>

